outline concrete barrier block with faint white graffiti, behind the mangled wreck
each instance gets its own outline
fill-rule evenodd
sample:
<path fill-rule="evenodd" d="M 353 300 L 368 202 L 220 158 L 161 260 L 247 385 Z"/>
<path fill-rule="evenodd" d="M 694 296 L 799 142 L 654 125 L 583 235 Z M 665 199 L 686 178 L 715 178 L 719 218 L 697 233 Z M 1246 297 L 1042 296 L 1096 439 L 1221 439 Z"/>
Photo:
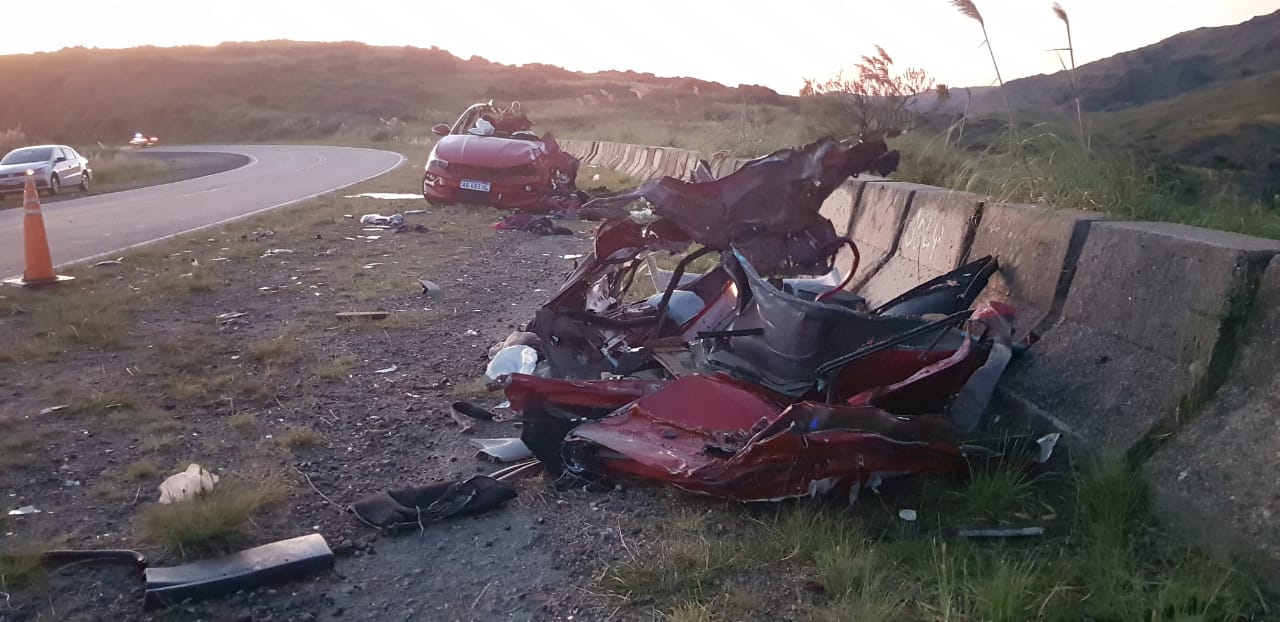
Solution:
<path fill-rule="evenodd" d="M 893 184 L 892 192 L 910 192 L 906 223 L 884 266 L 859 293 L 872 306 L 941 276 L 964 261 L 982 215 L 983 197 L 919 184 Z"/>

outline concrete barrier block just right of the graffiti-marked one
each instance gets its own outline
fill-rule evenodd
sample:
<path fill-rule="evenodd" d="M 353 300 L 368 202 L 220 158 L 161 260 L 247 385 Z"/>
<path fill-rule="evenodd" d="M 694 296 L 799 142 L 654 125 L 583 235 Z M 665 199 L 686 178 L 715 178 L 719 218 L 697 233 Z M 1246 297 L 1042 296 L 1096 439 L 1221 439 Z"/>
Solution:
<path fill-rule="evenodd" d="M 980 301 L 1018 308 L 1018 330 L 1041 334 L 1061 316 L 1089 224 L 1103 216 L 1038 205 L 983 203 L 969 256 L 1000 259 Z"/>

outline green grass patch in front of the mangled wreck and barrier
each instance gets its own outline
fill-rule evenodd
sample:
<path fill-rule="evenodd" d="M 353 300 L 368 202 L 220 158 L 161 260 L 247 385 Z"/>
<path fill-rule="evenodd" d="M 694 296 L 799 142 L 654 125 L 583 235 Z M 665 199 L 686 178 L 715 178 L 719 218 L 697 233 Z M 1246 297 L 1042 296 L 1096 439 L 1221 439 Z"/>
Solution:
<path fill-rule="evenodd" d="M 628 548 L 637 552 L 600 586 L 671 619 L 760 619 L 783 604 L 803 619 L 940 621 L 1249 619 L 1268 607 L 1256 577 L 1156 526 L 1140 477 L 1121 462 L 1057 479 L 992 471 L 952 497 L 900 491 L 858 503 L 685 509 L 648 548 Z M 1034 504 L 1053 507 L 1043 538 L 948 535 L 972 513 Z M 922 531 L 902 531 L 896 507 L 928 508 Z M 814 587 L 800 590 L 805 582 Z M 723 598 L 744 590 L 765 598 Z"/>

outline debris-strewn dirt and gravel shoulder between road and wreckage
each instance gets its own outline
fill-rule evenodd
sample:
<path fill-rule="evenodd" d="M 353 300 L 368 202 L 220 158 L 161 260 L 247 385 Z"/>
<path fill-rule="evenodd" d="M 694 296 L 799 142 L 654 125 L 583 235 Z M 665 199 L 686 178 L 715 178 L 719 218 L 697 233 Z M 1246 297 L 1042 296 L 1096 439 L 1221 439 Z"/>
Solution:
<path fill-rule="evenodd" d="M 337 567 L 273 589 L 143 612 L 134 571 L 70 564 L 0 591 L 0 619 L 604 619 L 602 568 L 660 512 L 649 490 L 557 490 L 517 480 L 511 504 L 387 536 L 346 504 L 390 488 L 490 472 L 449 415 L 475 395 L 488 348 L 529 321 L 584 252 L 577 234 L 490 228 L 498 212 L 429 209 L 404 233 L 352 215 L 428 209 L 343 198 L 404 192 L 416 168 L 225 229 L 78 267 L 59 291 L 0 291 L 0 553 L 127 548 L 179 563 L 320 532 Z M 357 235 L 378 239 L 360 238 Z M 291 252 L 269 252 L 284 250 Z M 442 294 L 417 284 L 431 279 Z M 346 323 L 340 311 L 390 311 Z M 219 320 L 220 314 L 244 314 Z M 379 372 L 396 366 L 393 372 Z M 460 388 L 461 387 L 461 388 Z M 54 412 L 42 410 L 67 406 Z M 283 500 L 211 550 L 148 540 L 142 514 L 189 462 L 223 485 L 271 479 Z M 0 572 L 3 575 L 3 572 Z M 635 612 L 631 612 L 634 616 Z"/>

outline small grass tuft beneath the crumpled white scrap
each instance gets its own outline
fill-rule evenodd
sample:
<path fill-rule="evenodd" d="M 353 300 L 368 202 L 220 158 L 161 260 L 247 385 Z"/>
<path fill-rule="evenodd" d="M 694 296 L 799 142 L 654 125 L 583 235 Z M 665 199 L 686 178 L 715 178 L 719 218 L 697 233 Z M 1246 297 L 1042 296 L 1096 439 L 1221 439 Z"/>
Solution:
<path fill-rule="evenodd" d="M 246 535 L 255 514 L 285 497 L 284 480 L 278 476 L 224 476 L 212 491 L 189 502 L 145 507 L 138 538 L 183 557 L 225 550 Z"/>

